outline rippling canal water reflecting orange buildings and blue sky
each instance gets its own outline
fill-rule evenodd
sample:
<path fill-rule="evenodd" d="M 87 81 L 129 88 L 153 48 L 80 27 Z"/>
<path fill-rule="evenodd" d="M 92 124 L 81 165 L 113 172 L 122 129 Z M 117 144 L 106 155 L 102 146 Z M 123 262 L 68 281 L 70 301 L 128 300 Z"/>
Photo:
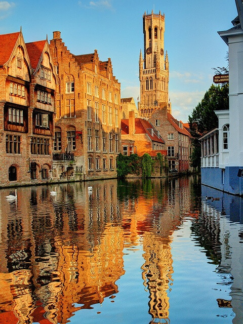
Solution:
<path fill-rule="evenodd" d="M 0 190 L 1 324 L 243 323 L 242 198 L 195 176 L 56 187 Z"/>

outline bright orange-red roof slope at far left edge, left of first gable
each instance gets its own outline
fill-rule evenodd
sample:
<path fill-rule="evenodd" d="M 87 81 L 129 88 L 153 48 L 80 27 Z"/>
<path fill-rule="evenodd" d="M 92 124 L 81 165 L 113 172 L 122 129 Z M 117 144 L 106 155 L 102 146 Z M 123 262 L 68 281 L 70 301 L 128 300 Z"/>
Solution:
<path fill-rule="evenodd" d="M 12 34 L 0 35 L 0 65 L 8 62 L 10 55 L 13 52 L 20 31 Z"/>

